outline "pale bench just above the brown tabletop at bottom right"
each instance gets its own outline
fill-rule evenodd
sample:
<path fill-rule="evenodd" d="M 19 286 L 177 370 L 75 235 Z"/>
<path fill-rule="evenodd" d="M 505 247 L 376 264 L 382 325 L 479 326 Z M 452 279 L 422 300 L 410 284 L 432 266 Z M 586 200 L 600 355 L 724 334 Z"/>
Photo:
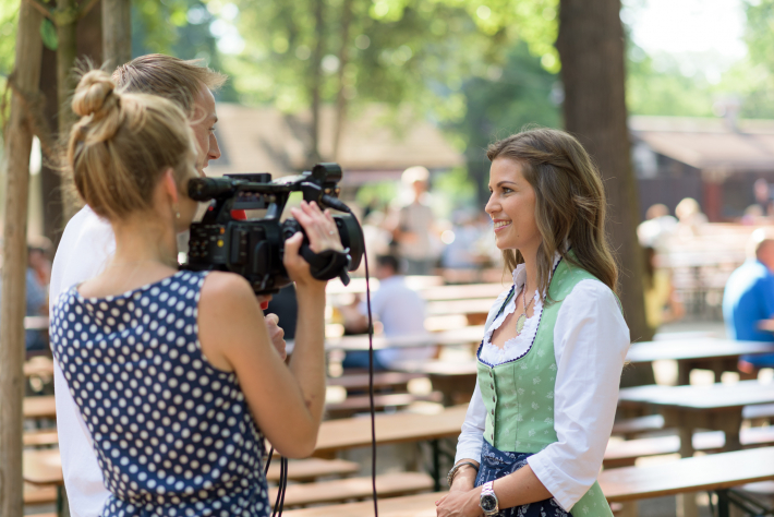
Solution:
<path fill-rule="evenodd" d="M 740 441 L 745 447 L 774 445 L 774 426 L 742 429 Z M 693 434 L 693 448 L 704 453 L 716 453 L 725 446 L 722 431 L 705 431 Z M 610 443 L 605 450 L 605 468 L 634 465 L 637 458 L 676 454 L 680 452 L 679 436 L 657 436 Z"/>

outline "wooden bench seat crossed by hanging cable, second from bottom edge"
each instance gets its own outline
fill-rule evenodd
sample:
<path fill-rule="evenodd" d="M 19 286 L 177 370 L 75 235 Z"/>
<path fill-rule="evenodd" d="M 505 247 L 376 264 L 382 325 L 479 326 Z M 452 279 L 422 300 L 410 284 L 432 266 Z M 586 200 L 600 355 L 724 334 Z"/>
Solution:
<path fill-rule="evenodd" d="M 277 488 L 269 489 L 271 504 L 277 498 Z M 433 478 L 426 473 L 394 472 L 376 477 L 376 492 L 379 497 L 395 497 L 428 490 L 433 490 Z M 372 493 L 371 477 L 339 479 L 319 483 L 289 484 L 285 492 L 285 506 L 363 500 L 371 497 Z"/>

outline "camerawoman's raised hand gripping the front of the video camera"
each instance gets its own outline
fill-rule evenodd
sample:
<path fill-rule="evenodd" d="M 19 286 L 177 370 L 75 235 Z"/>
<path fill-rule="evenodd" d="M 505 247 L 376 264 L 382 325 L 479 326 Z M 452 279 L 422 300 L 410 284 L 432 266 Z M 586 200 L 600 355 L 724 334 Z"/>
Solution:
<path fill-rule="evenodd" d="M 306 237 L 309 237 L 310 240 L 310 249 L 313 252 L 319 253 L 326 250 L 343 250 L 338 228 L 329 211 L 323 212 L 316 203 L 302 201 L 298 208 L 291 208 L 290 212 L 306 232 Z M 319 284 L 324 286 L 325 281 L 319 281 L 312 277 L 309 263 L 299 255 L 302 242 L 303 235 L 301 232 L 295 233 L 285 241 L 285 257 L 282 258 L 282 264 L 288 270 L 290 278 L 297 284 Z"/>

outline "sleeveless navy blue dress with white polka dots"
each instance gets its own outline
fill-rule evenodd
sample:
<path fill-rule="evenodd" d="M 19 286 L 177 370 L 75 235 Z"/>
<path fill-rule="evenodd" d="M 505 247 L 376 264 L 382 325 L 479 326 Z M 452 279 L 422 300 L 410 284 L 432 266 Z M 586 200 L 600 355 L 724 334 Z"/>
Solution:
<path fill-rule="evenodd" d="M 53 354 L 111 493 L 104 517 L 269 514 L 263 436 L 198 342 L 205 276 L 100 299 L 73 287 L 55 308 Z"/>

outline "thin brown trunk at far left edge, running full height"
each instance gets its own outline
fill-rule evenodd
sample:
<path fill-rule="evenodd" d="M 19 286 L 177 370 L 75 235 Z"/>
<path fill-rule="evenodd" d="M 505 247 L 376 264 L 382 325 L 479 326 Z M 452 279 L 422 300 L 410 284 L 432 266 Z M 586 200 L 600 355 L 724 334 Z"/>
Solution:
<path fill-rule="evenodd" d="M 0 292 L 0 515 L 24 515 L 22 399 L 27 265 L 27 191 L 33 145 L 28 106 L 37 95 L 40 13 L 21 0 L 11 116 L 5 131 L 5 217 Z"/>

